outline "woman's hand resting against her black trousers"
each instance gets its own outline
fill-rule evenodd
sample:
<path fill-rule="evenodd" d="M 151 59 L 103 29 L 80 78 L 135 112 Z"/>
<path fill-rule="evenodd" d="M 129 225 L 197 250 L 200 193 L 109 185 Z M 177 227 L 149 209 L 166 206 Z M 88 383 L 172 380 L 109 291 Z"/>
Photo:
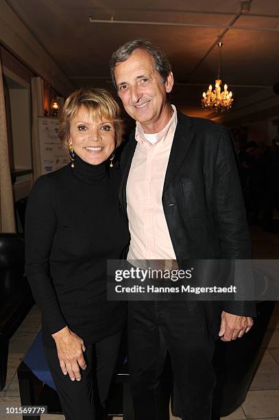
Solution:
<path fill-rule="evenodd" d="M 64 327 L 60 331 L 52 334 L 56 342 L 58 359 L 64 375 L 69 373 L 72 381 L 80 381 L 80 367 L 86 369 L 84 354 L 86 347 L 82 338 L 77 336 L 71 329 Z"/>

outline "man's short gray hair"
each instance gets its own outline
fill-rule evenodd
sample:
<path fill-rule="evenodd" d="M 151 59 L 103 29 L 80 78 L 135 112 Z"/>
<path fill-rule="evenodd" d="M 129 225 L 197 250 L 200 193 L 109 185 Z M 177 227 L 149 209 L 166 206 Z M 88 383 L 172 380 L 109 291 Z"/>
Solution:
<path fill-rule="evenodd" d="M 132 53 L 136 49 L 145 49 L 153 58 L 155 68 L 162 78 L 162 82 L 165 83 L 167 76 L 171 73 L 171 63 L 163 51 L 161 51 L 156 45 L 150 43 L 147 39 L 135 39 L 128 41 L 124 45 L 121 45 L 117 51 L 114 51 L 112 58 L 110 59 L 110 75 L 114 87 L 117 87 L 117 83 L 114 77 L 114 69 L 118 62 L 128 60 Z"/>

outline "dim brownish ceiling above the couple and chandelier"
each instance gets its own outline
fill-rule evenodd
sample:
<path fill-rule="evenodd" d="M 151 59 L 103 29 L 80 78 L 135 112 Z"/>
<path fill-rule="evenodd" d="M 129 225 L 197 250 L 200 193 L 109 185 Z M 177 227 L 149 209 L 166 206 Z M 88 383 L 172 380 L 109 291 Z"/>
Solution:
<path fill-rule="evenodd" d="M 204 115 L 200 97 L 217 76 L 214 45 L 223 32 L 222 76 L 232 85 L 236 104 L 279 82 L 279 0 L 253 0 L 250 13 L 241 16 L 241 0 L 6 2 L 77 87 L 112 89 L 108 67 L 112 52 L 127 40 L 147 38 L 171 60 L 173 102 L 191 115 Z M 153 24 L 89 21 L 89 16 L 110 20 L 112 14 L 114 21 Z"/>

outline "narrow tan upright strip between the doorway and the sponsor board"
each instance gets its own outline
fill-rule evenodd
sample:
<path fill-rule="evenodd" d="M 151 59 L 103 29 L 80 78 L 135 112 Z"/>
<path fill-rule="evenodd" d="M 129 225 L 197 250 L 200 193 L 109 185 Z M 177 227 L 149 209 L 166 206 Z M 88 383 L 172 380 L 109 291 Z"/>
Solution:
<path fill-rule="evenodd" d="M 32 90 L 32 152 L 34 181 L 41 175 L 40 141 L 38 133 L 38 117 L 45 115 L 44 110 L 44 82 L 42 78 L 31 79 Z"/>

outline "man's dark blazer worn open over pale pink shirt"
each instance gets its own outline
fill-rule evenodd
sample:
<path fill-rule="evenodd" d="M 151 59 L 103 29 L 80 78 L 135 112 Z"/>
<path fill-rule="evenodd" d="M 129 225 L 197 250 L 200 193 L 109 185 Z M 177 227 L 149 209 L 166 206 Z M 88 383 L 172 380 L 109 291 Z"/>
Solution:
<path fill-rule="evenodd" d="M 121 156 L 120 200 L 127 221 L 126 184 L 136 143 L 133 130 Z M 178 262 L 252 258 L 236 156 L 226 127 L 178 112 L 162 207 Z M 256 315 L 254 303 L 247 301 L 223 302 L 221 310 Z"/>

